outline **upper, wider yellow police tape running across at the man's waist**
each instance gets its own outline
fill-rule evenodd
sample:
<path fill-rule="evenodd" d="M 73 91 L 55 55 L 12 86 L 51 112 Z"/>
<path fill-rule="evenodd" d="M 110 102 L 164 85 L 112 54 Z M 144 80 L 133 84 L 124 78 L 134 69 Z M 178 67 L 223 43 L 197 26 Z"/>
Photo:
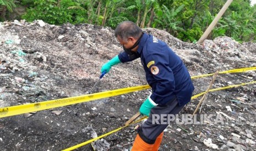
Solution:
<path fill-rule="evenodd" d="M 231 70 L 222 71 L 219 73 L 238 73 L 238 72 L 246 72 L 246 71 L 254 71 L 254 70 L 256 70 L 256 67 L 231 69 Z M 208 77 L 208 76 L 211 76 L 214 74 L 215 73 L 198 75 L 198 76 L 192 77 L 192 79 Z M 129 92 L 134 92 L 134 91 L 139 91 L 139 90 L 144 90 L 144 89 L 149 89 L 149 88 L 150 88 L 149 85 L 134 86 L 134 87 L 130 87 L 130 88 L 123 88 L 123 89 L 99 92 L 99 93 L 83 95 L 83 96 L 61 98 L 61 99 L 57 99 L 57 100 L 43 101 L 43 102 L 30 103 L 30 104 L 22 104 L 19 106 L 3 107 L 3 108 L 0 108 L 0 118 L 23 114 L 23 113 L 42 111 L 42 110 L 50 109 L 50 108 L 68 106 L 68 105 L 75 104 L 75 103 L 99 100 L 101 98 L 127 94 Z"/>

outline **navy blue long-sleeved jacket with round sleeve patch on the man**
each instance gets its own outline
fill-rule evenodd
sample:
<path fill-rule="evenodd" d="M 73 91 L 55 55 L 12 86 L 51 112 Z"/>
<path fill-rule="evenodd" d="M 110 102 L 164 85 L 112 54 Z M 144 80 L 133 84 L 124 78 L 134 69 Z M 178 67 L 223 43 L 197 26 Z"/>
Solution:
<path fill-rule="evenodd" d="M 165 42 L 150 34 L 143 34 L 137 50 L 152 88 L 150 98 L 156 104 L 166 104 L 177 97 L 179 106 L 188 103 L 194 86 L 182 60 Z M 132 61 L 127 53 L 118 55 L 121 62 Z"/>

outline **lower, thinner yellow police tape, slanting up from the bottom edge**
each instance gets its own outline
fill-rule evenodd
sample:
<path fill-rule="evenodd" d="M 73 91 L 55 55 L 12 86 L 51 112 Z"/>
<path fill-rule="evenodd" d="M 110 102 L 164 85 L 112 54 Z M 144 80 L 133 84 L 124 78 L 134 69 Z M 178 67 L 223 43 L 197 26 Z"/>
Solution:
<path fill-rule="evenodd" d="M 247 85 L 247 84 L 253 84 L 253 83 L 256 83 L 256 81 L 249 82 L 249 83 L 242 83 L 242 84 L 236 84 L 236 85 L 225 86 L 225 87 L 217 88 L 217 89 L 211 89 L 211 90 L 209 90 L 209 92 L 219 91 L 219 90 L 224 90 L 224 89 L 230 89 L 230 88 L 235 88 L 235 87 L 237 87 L 237 86 L 242 86 L 242 85 Z M 197 97 L 199 97 L 199 96 L 201 96 L 201 95 L 204 95 L 205 93 L 206 93 L 206 92 L 201 92 L 200 94 L 197 94 L 197 95 L 192 96 L 191 99 L 193 100 L 193 99 L 195 99 L 195 98 L 197 98 Z M 146 118 L 147 118 L 147 117 L 143 117 L 143 118 L 139 119 L 138 121 L 135 121 L 134 123 L 138 123 L 139 121 L 141 121 L 141 120 L 143 120 L 143 119 L 146 119 Z M 131 123 L 131 124 L 134 124 L 134 123 Z M 129 124 L 129 125 L 131 125 L 131 124 Z M 65 151 L 67 151 L 67 150 L 74 150 L 74 149 L 77 149 L 77 148 L 79 148 L 79 147 L 81 147 L 81 146 L 85 146 L 86 144 L 89 144 L 89 143 L 91 143 L 91 142 L 93 142 L 93 141 L 99 140 L 99 139 L 102 138 L 102 137 L 106 137 L 106 136 L 108 136 L 108 135 L 111 135 L 112 133 L 117 132 L 117 131 L 119 131 L 119 130 L 121 130 L 121 129 L 123 129 L 124 127 L 127 127 L 127 126 L 129 126 L 129 125 L 125 125 L 125 126 L 123 126 L 123 127 L 119 127 L 119 128 L 116 129 L 116 130 L 110 131 L 110 132 L 105 133 L 104 135 L 101 135 L 101 136 L 99 136 L 99 137 L 96 137 L 96 138 L 94 138 L 94 139 L 92 139 L 92 140 L 89 140 L 89 141 L 86 141 L 86 142 L 77 144 L 76 146 L 69 147 L 69 148 L 64 149 L 64 150 L 65 150 Z"/>

